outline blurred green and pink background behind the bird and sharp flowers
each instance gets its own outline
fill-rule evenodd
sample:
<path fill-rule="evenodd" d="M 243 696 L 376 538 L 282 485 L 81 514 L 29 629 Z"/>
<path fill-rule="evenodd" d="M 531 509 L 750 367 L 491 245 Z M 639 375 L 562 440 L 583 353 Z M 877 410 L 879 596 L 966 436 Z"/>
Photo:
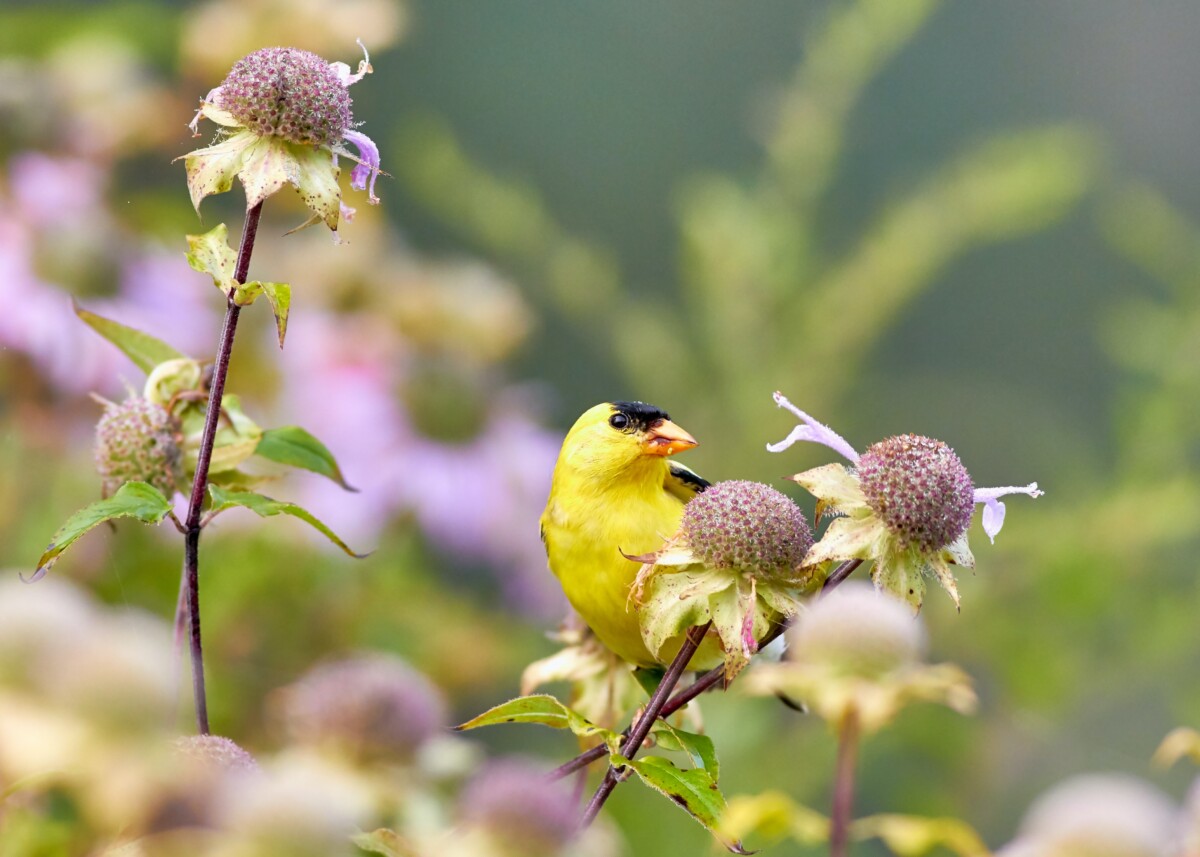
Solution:
<path fill-rule="evenodd" d="M 395 178 L 349 246 L 280 238 L 304 217 L 272 199 L 251 272 L 292 282 L 293 326 L 280 356 L 251 313 L 230 389 L 325 441 L 361 492 L 281 490 L 374 553 L 222 519 L 215 731 L 271 747 L 270 690 L 365 647 L 456 714 L 512 695 L 559 612 L 535 520 L 575 414 L 653 401 L 701 439 L 700 472 L 779 484 L 821 463 L 764 453 L 791 427 L 782 389 L 859 448 L 932 435 L 977 484 L 1048 492 L 977 551 L 961 615 L 926 605 L 980 713 L 908 712 L 863 757 L 864 814 L 958 815 L 998 845 L 1046 784 L 1146 774 L 1200 709 L 1198 26 L 1116 0 L 0 7 L 6 574 L 98 490 L 85 394 L 140 383 L 68 295 L 211 353 L 218 299 L 184 262 L 198 223 L 170 164 L 194 98 L 254 48 L 353 61 L 361 36 L 355 118 Z M 205 203 L 204 228 L 222 220 L 239 200 Z M 97 532 L 53 574 L 167 616 L 167 535 Z M 822 726 L 736 694 L 704 711 L 727 793 L 823 804 Z M 631 853 L 704 847 L 632 787 L 611 807 Z"/>

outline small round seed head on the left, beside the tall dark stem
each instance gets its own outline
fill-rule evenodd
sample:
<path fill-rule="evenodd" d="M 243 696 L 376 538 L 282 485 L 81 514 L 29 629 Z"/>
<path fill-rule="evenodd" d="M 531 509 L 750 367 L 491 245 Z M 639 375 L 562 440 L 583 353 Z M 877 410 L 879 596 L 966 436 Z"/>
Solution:
<path fill-rule="evenodd" d="M 167 497 L 182 479 L 179 421 L 161 404 L 130 396 L 109 404 L 96 424 L 96 471 L 112 495 L 125 483 L 149 483 Z"/>

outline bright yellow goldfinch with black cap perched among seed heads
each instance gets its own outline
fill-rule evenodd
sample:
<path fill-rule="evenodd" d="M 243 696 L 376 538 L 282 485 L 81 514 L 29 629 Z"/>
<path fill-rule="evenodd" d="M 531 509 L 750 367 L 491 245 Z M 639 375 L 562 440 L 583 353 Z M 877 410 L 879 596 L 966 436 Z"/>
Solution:
<path fill-rule="evenodd" d="M 660 549 L 679 528 L 684 504 L 709 486 L 670 460 L 695 445 L 653 404 L 596 404 L 566 433 L 541 515 L 550 570 L 566 600 L 600 642 L 638 666 L 670 663 L 682 640 L 660 658 L 646 648 L 629 599 L 641 564 L 626 557 Z M 720 659 L 719 642 L 706 640 L 690 666 Z"/>

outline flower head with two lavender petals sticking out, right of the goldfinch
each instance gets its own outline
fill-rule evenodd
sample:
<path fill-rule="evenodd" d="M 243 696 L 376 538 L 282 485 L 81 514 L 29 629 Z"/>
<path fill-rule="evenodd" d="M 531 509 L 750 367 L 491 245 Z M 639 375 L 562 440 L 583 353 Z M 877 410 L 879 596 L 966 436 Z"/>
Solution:
<path fill-rule="evenodd" d="M 806 564 L 847 559 L 874 561 L 871 579 L 919 610 L 925 577 L 934 576 L 959 604 L 950 565 L 974 568 L 967 531 L 976 504 L 983 503 L 983 528 L 995 540 L 1004 525 L 1006 495 L 1040 497 L 1037 483 L 1020 487 L 977 489 L 959 456 L 941 441 L 918 435 L 890 437 L 859 455 L 845 438 L 775 394 L 775 402 L 802 424 L 779 443 L 781 453 L 797 441 L 829 447 L 852 465 L 824 465 L 792 479 L 817 498 L 817 515 L 838 517 L 809 552 Z"/>

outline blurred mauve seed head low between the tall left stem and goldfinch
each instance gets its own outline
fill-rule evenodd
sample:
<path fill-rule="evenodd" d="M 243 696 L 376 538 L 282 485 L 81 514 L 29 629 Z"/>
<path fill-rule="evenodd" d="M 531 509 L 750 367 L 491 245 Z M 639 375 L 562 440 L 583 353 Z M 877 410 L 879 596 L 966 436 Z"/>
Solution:
<path fill-rule="evenodd" d="M 400 658 L 367 654 L 318 666 L 287 688 L 283 719 L 302 743 L 407 760 L 442 727 L 445 705 Z"/>

